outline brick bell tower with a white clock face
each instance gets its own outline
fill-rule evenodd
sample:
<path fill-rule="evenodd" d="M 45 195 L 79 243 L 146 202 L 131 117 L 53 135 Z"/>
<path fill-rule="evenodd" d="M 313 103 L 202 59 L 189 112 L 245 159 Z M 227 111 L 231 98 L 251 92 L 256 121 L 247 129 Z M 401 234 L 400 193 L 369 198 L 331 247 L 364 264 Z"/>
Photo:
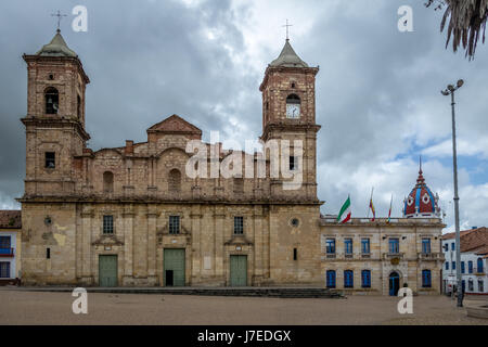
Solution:
<path fill-rule="evenodd" d="M 317 132 L 316 75 L 319 67 L 309 67 L 293 50 L 286 39 L 280 56 L 271 62 L 259 87 L 262 94 L 261 140 L 301 141 L 303 157 L 298 163 L 291 150 L 290 168 L 301 170 L 303 183 L 295 192 L 284 194 L 274 182 L 271 193 L 293 195 L 301 200 L 317 201 Z M 297 166 L 298 165 L 298 166 Z"/>

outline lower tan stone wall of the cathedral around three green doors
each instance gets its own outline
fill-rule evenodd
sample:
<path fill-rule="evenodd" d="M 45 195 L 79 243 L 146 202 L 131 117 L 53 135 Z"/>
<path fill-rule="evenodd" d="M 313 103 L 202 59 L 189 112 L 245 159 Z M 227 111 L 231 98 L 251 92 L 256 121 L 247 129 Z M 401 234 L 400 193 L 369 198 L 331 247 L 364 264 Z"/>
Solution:
<path fill-rule="evenodd" d="M 231 255 L 247 255 L 249 285 L 320 282 L 317 207 L 24 204 L 23 213 L 26 284 L 98 285 L 99 256 L 117 255 L 118 283 L 163 285 L 165 248 L 187 250 L 188 285 L 229 285 Z M 298 228 L 290 224 L 291 214 Z M 105 215 L 114 216 L 113 235 L 103 234 Z M 180 234 L 169 234 L 169 216 L 180 216 Z M 243 235 L 233 233 L 237 216 Z"/>

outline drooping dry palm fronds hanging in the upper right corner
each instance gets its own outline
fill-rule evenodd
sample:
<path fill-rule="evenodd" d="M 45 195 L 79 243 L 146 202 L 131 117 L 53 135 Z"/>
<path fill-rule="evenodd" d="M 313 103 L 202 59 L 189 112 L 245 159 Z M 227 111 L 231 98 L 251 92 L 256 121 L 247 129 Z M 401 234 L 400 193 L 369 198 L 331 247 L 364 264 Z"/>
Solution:
<path fill-rule="evenodd" d="M 457 52 L 462 43 L 466 56 L 472 60 L 481 34 L 485 43 L 488 0 L 427 0 L 425 7 L 434 7 L 435 10 L 446 8 L 440 23 L 442 31 L 449 18 L 446 48 L 452 36 L 452 50 Z"/>

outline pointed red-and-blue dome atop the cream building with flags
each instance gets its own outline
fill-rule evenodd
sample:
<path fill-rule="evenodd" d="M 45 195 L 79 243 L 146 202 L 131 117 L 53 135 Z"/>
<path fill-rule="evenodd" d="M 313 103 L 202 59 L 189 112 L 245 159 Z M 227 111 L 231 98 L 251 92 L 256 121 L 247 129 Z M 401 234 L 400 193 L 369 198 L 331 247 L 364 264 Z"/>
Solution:
<path fill-rule="evenodd" d="M 437 206 L 438 196 L 434 196 L 432 191 L 425 184 L 422 175 L 422 166 L 419 170 L 416 184 L 404 200 L 403 216 L 404 217 L 438 217 L 439 208 Z"/>

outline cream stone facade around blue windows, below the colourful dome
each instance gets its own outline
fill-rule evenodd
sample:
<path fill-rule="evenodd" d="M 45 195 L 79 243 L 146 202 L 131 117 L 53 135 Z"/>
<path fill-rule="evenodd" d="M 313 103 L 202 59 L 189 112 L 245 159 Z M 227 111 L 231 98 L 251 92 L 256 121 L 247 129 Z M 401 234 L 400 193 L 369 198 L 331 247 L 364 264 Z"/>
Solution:
<path fill-rule="evenodd" d="M 441 288 L 441 223 L 437 218 L 352 218 L 350 223 L 337 224 L 333 218 L 323 218 L 321 224 L 321 272 L 336 271 L 336 287 L 361 294 L 390 293 L 390 277 L 398 274 L 398 287 L 408 285 L 415 293 L 438 294 Z M 334 254 L 326 253 L 326 240 L 336 243 Z M 346 254 L 345 240 L 352 240 L 352 252 Z M 390 240 L 399 241 L 398 252 L 391 252 Z M 361 241 L 369 240 L 369 252 Z M 428 240 L 429 249 L 423 248 Z M 352 270 L 354 288 L 345 287 L 344 271 Z M 364 287 L 363 270 L 371 271 L 371 286 Z M 423 283 L 422 271 L 429 271 L 429 285 Z M 397 290 L 398 290 L 397 287 Z"/>

